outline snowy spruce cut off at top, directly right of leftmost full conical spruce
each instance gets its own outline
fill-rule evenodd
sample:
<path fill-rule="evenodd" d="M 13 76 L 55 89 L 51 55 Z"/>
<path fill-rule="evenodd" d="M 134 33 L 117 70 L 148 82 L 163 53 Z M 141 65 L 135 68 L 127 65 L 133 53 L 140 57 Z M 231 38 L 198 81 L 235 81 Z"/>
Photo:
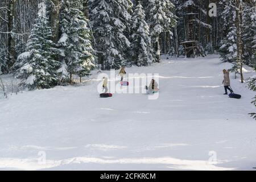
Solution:
<path fill-rule="evenodd" d="M 95 67 L 94 50 L 90 42 L 92 32 L 88 28 L 88 19 L 81 11 L 81 0 L 63 0 L 61 3 L 61 38 L 58 46 L 62 50 L 63 63 L 59 72 L 63 80 L 72 83 L 72 75 L 88 76 Z"/>

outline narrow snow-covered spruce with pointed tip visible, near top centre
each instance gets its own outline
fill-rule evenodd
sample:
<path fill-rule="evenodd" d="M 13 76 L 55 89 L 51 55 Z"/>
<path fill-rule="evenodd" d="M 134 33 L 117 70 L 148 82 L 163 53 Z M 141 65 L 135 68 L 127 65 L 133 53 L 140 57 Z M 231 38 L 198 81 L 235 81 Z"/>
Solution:
<path fill-rule="evenodd" d="M 153 60 L 153 50 L 149 27 L 145 21 L 145 14 L 141 3 L 138 2 L 138 5 L 135 7 L 131 20 L 133 22 L 131 26 L 131 60 L 133 64 L 139 67 L 150 65 Z"/>

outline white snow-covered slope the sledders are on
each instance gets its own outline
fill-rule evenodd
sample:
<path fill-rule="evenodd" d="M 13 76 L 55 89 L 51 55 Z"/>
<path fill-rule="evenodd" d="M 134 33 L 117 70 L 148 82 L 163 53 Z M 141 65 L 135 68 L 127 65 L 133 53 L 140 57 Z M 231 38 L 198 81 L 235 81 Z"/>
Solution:
<path fill-rule="evenodd" d="M 0 169 L 253 170 L 256 121 L 248 113 L 255 93 L 232 73 L 242 98 L 223 95 L 222 69 L 230 67 L 213 55 L 127 68 L 159 73 L 157 100 L 99 98 L 96 72 L 80 86 L 1 99 Z"/>

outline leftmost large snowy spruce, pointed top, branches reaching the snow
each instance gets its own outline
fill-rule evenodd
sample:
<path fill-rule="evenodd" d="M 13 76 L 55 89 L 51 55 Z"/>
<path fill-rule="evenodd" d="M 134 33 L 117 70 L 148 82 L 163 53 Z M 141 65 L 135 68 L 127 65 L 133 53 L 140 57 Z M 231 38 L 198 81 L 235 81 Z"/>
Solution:
<path fill-rule="evenodd" d="M 51 40 L 49 20 L 42 12 L 39 10 L 27 42 L 26 52 L 18 56 L 14 65 L 16 77 L 20 78 L 22 84 L 29 90 L 57 85 L 56 70 L 60 67 L 57 61 L 60 51 Z"/>

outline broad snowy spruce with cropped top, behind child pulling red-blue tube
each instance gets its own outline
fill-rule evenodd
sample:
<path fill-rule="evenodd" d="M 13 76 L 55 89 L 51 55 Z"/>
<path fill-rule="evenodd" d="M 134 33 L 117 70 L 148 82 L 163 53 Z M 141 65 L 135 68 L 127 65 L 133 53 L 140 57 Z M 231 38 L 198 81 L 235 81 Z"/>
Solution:
<path fill-rule="evenodd" d="M 130 0 L 89 0 L 89 17 L 96 40 L 94 49 L 101 69 L 119 69 L 127 63 L 130 47 L 127 30 L 131 15 Z"/>

